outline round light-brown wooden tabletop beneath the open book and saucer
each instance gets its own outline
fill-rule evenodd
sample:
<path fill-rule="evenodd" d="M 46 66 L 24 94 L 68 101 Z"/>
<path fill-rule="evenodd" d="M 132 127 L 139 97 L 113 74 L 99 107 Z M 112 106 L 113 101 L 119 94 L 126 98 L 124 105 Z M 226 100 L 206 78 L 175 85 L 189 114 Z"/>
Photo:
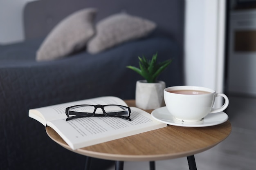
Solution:
<path fill-rule="evenodd" d="M 135 106 L 134 100 L 125 101 Z M 151 113 L 152 110 L 146 110 Z M 66 142 L 49 126 L 49 137 L 68 150 Z M 72 150 L 89 157 L 115 161 L 156 161 L 195 155 L 216 146 L 231 133 L 231 124 L 209 127 L 181 127 L 168 125 L 165 128 Z"/>

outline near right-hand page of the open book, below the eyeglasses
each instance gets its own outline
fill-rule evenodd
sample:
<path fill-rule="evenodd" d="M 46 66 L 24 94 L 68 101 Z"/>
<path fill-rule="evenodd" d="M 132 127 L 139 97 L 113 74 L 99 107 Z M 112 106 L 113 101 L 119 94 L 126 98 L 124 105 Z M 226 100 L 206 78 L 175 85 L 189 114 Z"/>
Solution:
<path fill-rule="evenodd" d="M 117 117 L 84 117 L 66 121 L 59 119 L 47 122 L 72 148 L 85 146 L 139 134 L 166 127 L 139 108 L 131 107 L 132 121 Z"/>

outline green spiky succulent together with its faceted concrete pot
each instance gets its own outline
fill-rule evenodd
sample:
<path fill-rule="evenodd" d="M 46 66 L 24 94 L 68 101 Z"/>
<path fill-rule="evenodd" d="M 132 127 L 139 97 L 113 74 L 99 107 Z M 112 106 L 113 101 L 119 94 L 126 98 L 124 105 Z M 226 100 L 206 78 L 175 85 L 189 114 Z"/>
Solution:
<path fill-rule="evenodd" d="M 151 60 L 142 56 L 139 58 L 139 68 L 126 66 L 144 77 L 136 82 L 135 102 L 138 108 L 155 109 L 164 105 L 165 82 L 157 81 L 157 77 L 171 64 L 172 60 L 157 62 L 157 53 Z"/>

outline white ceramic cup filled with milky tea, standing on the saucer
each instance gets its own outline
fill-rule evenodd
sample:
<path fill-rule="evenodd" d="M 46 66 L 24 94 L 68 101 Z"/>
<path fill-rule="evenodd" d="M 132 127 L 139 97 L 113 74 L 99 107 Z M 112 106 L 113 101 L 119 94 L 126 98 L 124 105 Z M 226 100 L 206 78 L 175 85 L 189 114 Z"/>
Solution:
<path fill-rule="evenodd" d="M 220 108 L 213 108 L 218 96 L 223 97 L 225 102 Z M 201 121 L 209 113 L 221 112 L 229 105 L 229 99 L 225 94 L 198 86 L 167 87 L 164 89 L 164 102 L 168 111 L 180 121 Z"/>

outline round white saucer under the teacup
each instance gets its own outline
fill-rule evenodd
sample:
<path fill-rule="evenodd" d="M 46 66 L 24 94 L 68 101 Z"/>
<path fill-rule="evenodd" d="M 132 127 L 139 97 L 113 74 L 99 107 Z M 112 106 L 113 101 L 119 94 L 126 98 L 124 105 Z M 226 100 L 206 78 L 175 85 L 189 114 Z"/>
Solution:
<path fill-rule="evenodd" d="M 174 126 L 184 126 L 184 127 L 206 127 L 222 124 L 229 118 L 228 115 L 224 112 L 211 113 L 204 117 L 203 120 L 197 122 L 184 122 L 175 119 L 166 107 L 161 107 L 153 110 L 151 116 L 161 121 L 162 123 L 174 125 Z"/>

